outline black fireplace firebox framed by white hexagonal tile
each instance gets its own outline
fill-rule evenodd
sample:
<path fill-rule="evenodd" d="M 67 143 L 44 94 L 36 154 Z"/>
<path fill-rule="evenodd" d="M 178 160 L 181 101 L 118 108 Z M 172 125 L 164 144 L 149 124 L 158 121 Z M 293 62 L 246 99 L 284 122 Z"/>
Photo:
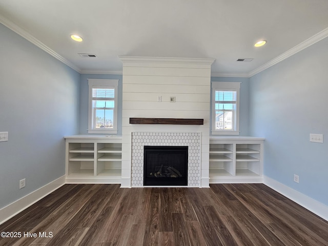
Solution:
<path fill-rule="evenodd" d="M 187 186 L 188 146 L 144 146 L 144 186 Z"/>

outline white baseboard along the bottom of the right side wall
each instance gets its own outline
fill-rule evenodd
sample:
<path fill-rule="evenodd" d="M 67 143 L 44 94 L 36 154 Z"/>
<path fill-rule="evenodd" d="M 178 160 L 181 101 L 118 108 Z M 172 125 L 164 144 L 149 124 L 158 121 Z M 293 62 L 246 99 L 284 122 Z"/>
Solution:
<path fill-rule="evenodd" d="M 306 196 L 288 186 L 285 186 L 282 183 L 267 176 L 263 177 L 263 183 L 264 185 L 269 186 L 270 188 L 274 189 L 285 197 L 288 197 L 289 199 L 295 201 L 305 209 L 310 210 L 312 213 L 328 221 L 328 206 L 326 206 L 325 204 L 309 196 Z"/>

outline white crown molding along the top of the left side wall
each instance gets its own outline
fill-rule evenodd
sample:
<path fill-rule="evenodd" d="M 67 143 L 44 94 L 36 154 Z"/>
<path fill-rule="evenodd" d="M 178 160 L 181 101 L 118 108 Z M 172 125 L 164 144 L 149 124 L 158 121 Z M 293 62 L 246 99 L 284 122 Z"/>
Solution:
<path fill-rule="evenodd" d="M 66 64 L 70 68 L 74 69 L 76 72 L 80 73 L 80 70 L 78 67 L 76 67 L 74 64 L 72 64 L 70 61 L 65 59 L 63 56 L 57 54 L 55 51 L 50 49 L 48 46 L 40 42 L 38 39 L 36 39 L 34 36 L 32 36 L 30 33 L 28 33 L 26 30 L 24 30 L 21 27 L 18 27 L 16 24 L 11 22 L 11 20 L 7 19 L 6 17 L 0 15 L 0 23 L 12 30 L 13 32 L 17 33 L 18 35 L 24 37 L 26 40 L 28 40 L 33 45 L 37 46 L 38 48 L 42 49 L 43 51 L 47 52 L 54 58 L 58 59 L 62 63 Z"/>

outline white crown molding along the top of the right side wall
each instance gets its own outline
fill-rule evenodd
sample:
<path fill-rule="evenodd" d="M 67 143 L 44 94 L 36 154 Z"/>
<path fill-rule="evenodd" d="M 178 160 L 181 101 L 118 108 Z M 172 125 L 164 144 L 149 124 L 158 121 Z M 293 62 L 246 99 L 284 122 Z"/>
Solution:
<path fill-rule="evenodd" d="M 263 70 L 272 67 L 273 65 L 280 63 L 280 61 L 300 52 L 301 50 L 308 48 L 309 46 L 319 42 L 321 39 L 328 37 L 328 28 L 322 30 L 321 32 L 318 32 L 317 34 L 313 35 L 312 37 L 306 39 L 302 43 L 298 44 L 297 46 L 293 47 L 292 49 L 282 53 L 281 55 L 277 56 L 276 58 L 270 60 L 268 63 L 265 63 L 264 65 L 258 67 L 257 69 L 251 71 L 249 73 L 249 77 L 254 76 L 255 74 L 258 74 L 259 72 L 262 72 Z"/>

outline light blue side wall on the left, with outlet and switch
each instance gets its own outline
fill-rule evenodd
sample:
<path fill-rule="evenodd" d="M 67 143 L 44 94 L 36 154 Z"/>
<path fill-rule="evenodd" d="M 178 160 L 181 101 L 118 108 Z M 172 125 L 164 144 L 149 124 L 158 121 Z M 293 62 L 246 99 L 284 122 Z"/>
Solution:
<path fill-rule="evenodd" d="M 0 24 L 0 209 L 65 175 L 78 133 L 79 73 Z M 26 187 L 19 190 L 19 180 Z"/>

